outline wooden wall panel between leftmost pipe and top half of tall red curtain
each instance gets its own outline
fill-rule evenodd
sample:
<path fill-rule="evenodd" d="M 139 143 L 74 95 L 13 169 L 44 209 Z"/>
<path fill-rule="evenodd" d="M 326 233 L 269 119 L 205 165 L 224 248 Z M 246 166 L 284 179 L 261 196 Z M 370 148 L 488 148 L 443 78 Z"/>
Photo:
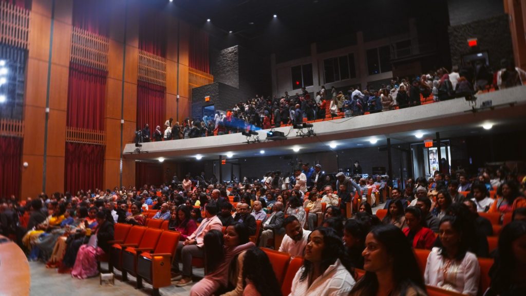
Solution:
<path fill-rule="evenodd" d="M 51 65 L 51 80 L 49 88 L 49 108 L 67 110 L 67 87 L 69 67 Z M 45 88 L 44 88 L 45 91 Z M 44 93 L 45 95 L 45 93 Z M 45 99 L 44 99 L 45 100 Z M 45 101 L 44 101 L 45 103 Z"/>

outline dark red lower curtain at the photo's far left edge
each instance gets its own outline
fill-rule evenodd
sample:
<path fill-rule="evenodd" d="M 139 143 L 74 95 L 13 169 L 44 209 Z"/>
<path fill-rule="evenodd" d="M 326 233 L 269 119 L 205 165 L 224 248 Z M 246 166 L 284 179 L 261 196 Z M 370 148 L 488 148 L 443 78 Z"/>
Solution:
<path fill-rule="evenodd" d="M 0 137 L 0 198 L 19 198 L 22 138 Z"/>

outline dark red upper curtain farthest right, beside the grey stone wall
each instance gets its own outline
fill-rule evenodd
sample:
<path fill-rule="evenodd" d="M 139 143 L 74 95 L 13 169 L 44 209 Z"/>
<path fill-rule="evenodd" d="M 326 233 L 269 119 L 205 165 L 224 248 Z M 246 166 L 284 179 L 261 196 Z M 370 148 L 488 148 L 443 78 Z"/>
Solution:
<path fill-rule="evenodd" d="M 190 27 L 189 66 L 210 73 L 208 57 L 208 34 L 199 28 Z"/>

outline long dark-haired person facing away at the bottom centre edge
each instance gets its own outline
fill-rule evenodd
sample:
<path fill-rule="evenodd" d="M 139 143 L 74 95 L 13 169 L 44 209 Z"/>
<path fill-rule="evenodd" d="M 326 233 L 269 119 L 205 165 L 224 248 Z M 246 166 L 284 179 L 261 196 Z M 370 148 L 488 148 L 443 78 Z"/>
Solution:
<path fill-rule="evenodd" d="M 259 248 L 248 249 L 242 267 L 240 282 L 245 283 L 242 296 L 281 296 L 280 285 L 267 253 Z"/>

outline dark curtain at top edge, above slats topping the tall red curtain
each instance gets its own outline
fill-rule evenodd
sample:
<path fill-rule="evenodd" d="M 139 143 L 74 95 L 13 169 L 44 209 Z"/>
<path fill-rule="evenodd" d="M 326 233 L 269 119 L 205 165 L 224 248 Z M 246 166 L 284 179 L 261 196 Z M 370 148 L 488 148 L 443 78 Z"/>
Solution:
<path fill-rule="evenodd" d="M 108 36 L 110 6 L 107 0 L 73 1 L 73 26 L 98 35 Z"/>

